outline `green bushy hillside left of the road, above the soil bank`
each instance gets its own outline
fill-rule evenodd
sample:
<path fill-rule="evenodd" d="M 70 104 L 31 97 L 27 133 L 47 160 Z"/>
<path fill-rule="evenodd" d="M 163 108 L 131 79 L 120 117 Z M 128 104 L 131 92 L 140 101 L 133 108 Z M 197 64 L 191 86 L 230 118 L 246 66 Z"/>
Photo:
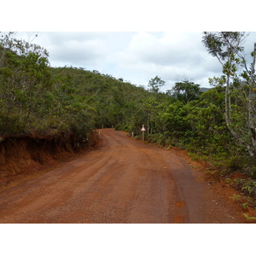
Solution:
<path fill-rule="evenodd" d="M 133 129 L 131 116 L 147 90 L 97 71 L 49 67 L 45 49 L 14 35 L 0 35 L 1 136 L 72 132 L 87 137 L 102 126 Z"/>

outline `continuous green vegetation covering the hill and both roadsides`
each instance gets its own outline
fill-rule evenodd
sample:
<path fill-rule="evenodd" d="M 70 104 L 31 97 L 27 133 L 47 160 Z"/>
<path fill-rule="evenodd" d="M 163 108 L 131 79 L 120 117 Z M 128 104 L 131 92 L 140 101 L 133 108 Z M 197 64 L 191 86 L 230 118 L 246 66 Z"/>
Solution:
<path fill-rule="evenodd" d="M 255 197 L 255 157 L 229 127 L 237 127 L 238 122 L 247 126 L 241 98 L 249 91 L 245 75 L 230 83 L 230 108 L 236 109 L 230 115 L 236 121 L 232 126 L 226 122 L 224 78 L 211 79 L 214 86 L 204 93 L 199 84 L 187 80 L 163 93 L 160 87 L 165 82 L 158 76 L 148 82 L 146 90 L 97 71 L 50 67 L 48 56 L 38 45 L 11 34 L 2 36 L 1 143 L 15 137 L 68 137 L 75 148 L 87 145 L 96 128 L 114 127 L 140 138 L 145 125 L 148 142 L 185 148 L 195 158 L 211 161 L 214 169 L 209 172 L 218 170 L 242 193 Z M 241 177 L 231 179 L 232 172 Z"/>

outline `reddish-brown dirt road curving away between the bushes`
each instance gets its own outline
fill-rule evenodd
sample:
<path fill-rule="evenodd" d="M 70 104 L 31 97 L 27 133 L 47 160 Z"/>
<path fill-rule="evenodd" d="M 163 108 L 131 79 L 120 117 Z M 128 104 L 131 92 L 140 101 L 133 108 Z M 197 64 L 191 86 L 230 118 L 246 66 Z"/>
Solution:
<path fill-rule="evenodd" d="M 241 223 L 185 160 L 103 129 L 77 160 L 0 192 L 0 223 Z"/>

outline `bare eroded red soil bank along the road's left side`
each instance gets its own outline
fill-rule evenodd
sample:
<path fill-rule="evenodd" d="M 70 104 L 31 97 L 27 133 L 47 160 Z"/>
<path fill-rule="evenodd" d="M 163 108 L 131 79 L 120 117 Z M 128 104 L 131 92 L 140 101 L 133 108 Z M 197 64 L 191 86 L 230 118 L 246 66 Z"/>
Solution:
<path fill-rule="evenodd" d="M 87 139 L 74 139 L 72 134 L 47 137 L 8 137 L 0 143 L 0 190 L 29 176 L 37 176 L 98 142 L 96 132 Z"/>

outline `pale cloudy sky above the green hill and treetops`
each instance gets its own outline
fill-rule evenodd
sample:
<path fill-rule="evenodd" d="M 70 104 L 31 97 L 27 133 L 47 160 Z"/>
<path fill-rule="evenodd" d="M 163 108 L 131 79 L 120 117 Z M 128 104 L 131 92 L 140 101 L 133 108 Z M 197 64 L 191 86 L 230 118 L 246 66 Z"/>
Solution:
<path fill-rule="evenodd" d="M 156 75 L 170 90 L 185 79 L 210 87 L 208 79 L 220 76 L 222 67 L 201 43 L 202 32 L 19 32 L 17 36 L 49 51 L 51 67 L 83 67 L 148 86 Z M 249 54 L 256 32 L 245 41 Z"/>

